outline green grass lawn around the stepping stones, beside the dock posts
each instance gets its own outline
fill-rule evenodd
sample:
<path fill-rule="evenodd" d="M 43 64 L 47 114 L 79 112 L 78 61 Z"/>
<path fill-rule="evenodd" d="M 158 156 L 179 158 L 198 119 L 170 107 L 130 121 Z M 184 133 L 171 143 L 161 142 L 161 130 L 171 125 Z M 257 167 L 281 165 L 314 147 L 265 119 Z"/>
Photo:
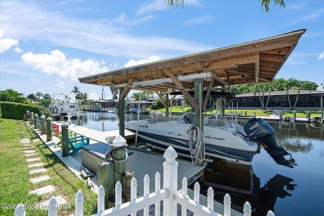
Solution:
<path fill-rule="evenodd" d="M 62 196 L 70 208 L 58 209 L 59 215 L 75 213 L 75 193 L 81 190 L 84 194 L 84 214 L 97 212 L 97 195 L 88 189 L 88 185 L 80 181 L 42 142 L 31 142 L 47 168 L 46 174 L 30 175 L 27 168 L 27 158 L 20 140 L 23 138 L 35 139 L 37 135 L 21 120 L 0 119 L 0 191 L 1 204 L 35 205 L 49 200 L 52 196 Z M 38 162 L 38 161 L 37 161 Z M 30 179 L 42 175 L 50 176 L 50 180 L 43 183 L 31 183 Z M 29 194 L 29 191 L 52 185 L 54 192 L 45 195 Z M 14 209 L 0 208 L 0 215 L 13 215 Z M 48 215 L 47 210 L 26 209 L 26 215 Z"/>

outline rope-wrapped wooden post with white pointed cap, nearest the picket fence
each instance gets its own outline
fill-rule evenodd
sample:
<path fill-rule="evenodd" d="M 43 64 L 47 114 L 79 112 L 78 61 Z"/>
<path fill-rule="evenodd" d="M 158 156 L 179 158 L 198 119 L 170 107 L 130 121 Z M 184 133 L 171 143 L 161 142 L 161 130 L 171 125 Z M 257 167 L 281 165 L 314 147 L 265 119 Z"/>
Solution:
<path fill-rule="evenodd" d="M 118 135 L 114 141 L 112 141 L 112 151 L 113 151 L 113 157 L 115 160 L 123 160 L 126 158 L 126 152 L 124 149 L 119 149 L 117 151 L 114 151 L 115 149 L 118 149 L 120 147 L 125 147 L 127 146 L 126 140 Z M 113 180 L 114 182 L 120 182 L 121 185 L 124 185 L 123 182 L 123 176 L 124 172 L 126 171 L 126 161 L 124 162 L 113 162 L 113 170 L 114 170 L 114 177 Z"/>

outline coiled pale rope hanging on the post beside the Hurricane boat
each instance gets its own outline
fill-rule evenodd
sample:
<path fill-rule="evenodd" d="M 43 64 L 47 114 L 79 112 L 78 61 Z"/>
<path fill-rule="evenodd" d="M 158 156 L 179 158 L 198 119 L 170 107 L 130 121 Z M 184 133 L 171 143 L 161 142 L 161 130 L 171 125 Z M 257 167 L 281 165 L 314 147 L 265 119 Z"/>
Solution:
<path fill-rule="evenodd" d="M 189 135 L 189 149 L 191 155 L 191 162 L 194 164 L 196 161 L 205 160 L 205 141 L 204 134 L 200 127 L 196 124 L 191 124 L 187 134 Z M 204 152 L 201 152 L 203 150 Z M 203 154 L 203 158 L 199 158 L 200 154 Z"/>

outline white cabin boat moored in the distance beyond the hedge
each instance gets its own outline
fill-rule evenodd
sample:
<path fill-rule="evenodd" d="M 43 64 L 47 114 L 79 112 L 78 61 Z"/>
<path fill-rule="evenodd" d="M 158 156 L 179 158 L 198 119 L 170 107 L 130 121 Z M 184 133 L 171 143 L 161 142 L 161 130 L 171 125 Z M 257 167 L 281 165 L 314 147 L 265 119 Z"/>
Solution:
<path fill-rule="evenodd" d="M 57 98 L 57 96 L 65 96 L 64 98 Z M 66 94 L 53 94 L 49 109 L 53 114 L 60 114 L 65 116 L 67 113 L 71 113 L 72 117 L 77 115 L 82 116 L 83 111 L 81 110 L 81 101 L 76 99 L 69 99 Z"/>

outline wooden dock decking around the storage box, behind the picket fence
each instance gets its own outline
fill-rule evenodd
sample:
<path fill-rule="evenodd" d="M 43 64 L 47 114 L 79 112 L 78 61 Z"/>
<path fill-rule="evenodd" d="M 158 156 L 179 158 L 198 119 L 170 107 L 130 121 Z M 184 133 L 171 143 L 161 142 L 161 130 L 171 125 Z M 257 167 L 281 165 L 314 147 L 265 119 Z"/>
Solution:
<path fill-rule="evenodd" d="M 53 121 L 53 123 L 61 125 L 62 121 Z M 78 135 L 82 135 L 84 137 L 87 137 L 90 139 L 90 145 L 93 144 L 104 144 L 109 145 L 106 142 L 106 138 L 109 137 L 117 137 L 119 135 L 119 130 L 115 131 L 108 131 L 108 132 L 99 132 L 94 129 L 90 129 L 83 126 L 78 126 L 75 124 L 69 124 L 68 127 L 69 131 L 72 131 Z M 69 156 L 62 156 L 62 149 L 57 145 L 58 142 L 60 142 L 60 139 L 57 137 L 52 137 L 52 141 L 47 142 L 46 135 L 41 135 L 41 131 L 39 129 L 33 129 L 34 132 L 39 136 L 39 138 L 51 149 L 51 151 L 61 159 L 61 161 L 73 172 L 74 175 L 76 175 L 77 178 L 79 178 L 82 181 L 87 181 L 87 179 L 84 178 L 83 173 L 88 172 L 89 175 L 93 176 L 90 179 L 90 185 L 91 189 L 96 192 L 98 189 L 98 178 L 96 175 L 94 175 L 91 171 L 89 171 L 89 168 L 82 164 L 82 151 L 79 151 L 75 153 L 74 155 Z M 129 132 L 125 129 L 125 139 L 130 140 L 131 138 L 134 138 L 135 135 L 132 132 Z M 129 148 L 129 151 L 132 152 L 132 162 L 134 167 L 135 175 L 134 177 L 137 180 L 137 193 L 138 197 L 143 196 L 144 194 L 144 176 L 147 174 L 150 178 L 150 192 L 153 192 L 155 190 L 155 184 L 154 184 L 154 178 L 155 174 L 158 171 L 161 178 L 161 185 L 163 185 L 163 162 L 165 162 L 165 158 L 154 152 L 147 151 L 145 149 L 131 146 Z M 177 159 L 178 162 L 178 190 L 182 188 L 182 179 L 184 177 L 188 180 L 188 185 L 194 183 L 201 175 L 203 175 L 205 166 L 197 166 L 195 164 L 192 164 L 190 161 Z M 188 188 L 188 195 L 190 197 L 193 197 L 193 190 Z M 207 206 L 207 197 L 200 194 L 200 204 Z M 224 212 L 224 206 L 222 203 L 214 201 L 214 211 L 218 212 L 220 214 L 223 214 Z M 242 213 L 235 211 L 234 209 L 231 209 L 231 215 L 237 216 L 242 215 Z"/>

